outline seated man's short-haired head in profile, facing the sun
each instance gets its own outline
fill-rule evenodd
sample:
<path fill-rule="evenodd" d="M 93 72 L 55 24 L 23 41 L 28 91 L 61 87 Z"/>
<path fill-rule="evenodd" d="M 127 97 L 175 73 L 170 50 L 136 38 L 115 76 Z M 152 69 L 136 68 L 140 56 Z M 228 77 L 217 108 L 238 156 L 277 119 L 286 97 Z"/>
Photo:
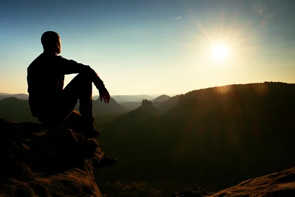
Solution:
<path fill-rule="evenodd" d="M 55 53 L 58 55 L 61 52 L 61 43 L 59 34 L 56 32 L 45 32 L 41 36 L 41 43 L 44 52 Z"/>

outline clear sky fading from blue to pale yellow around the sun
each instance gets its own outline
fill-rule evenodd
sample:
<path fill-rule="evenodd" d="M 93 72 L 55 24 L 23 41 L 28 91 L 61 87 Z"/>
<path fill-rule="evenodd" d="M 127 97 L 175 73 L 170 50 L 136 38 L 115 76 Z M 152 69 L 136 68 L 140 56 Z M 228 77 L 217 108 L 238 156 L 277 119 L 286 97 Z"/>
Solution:
<path fill-rule="evenodd" d="M 27 93 L 46 31 L 59 33 L 60 55 L 92 67 L 111 95 L 295 83 L 295 0 L 0 1 L 2 93 Z"/>

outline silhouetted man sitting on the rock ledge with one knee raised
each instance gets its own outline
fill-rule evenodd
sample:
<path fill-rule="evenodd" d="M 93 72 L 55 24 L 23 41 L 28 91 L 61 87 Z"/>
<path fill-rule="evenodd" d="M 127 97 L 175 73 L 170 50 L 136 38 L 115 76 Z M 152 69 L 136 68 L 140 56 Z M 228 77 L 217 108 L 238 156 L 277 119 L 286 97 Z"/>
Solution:
<path fill-rule="evenodd" d="M 28 67 L 28 93 L 31 113 L 44 124 L 63 124 L 80 101 L 79 124 L 87 137 L 98 137 L 92 117 L 92 82 L 99 91 L 100 100 L 109 103 L 110 94 L 103 81 L 90 66 L 58 56 L 61 52 L 59 34 L 45 32 L 41 36 L 44 52 Z M 64 75 L 78 73 L 63 89 Z"/>

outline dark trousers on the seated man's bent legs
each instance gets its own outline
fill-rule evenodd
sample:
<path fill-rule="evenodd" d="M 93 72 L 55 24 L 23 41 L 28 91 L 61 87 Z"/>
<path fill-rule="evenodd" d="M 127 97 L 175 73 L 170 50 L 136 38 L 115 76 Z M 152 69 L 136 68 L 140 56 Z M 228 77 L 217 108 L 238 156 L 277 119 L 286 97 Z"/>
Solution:
<path fill-rule="evenodd" d="M 78 100 L 80 113 L 73 111 Z M 40 114 L 39 121 L 44 124 L 62 124 L 64 121 L 92 121 L 92 81 L 84 74 L 78 74 L 62 90 L 61 95 L 49 104 L 46 113 Z"/>

